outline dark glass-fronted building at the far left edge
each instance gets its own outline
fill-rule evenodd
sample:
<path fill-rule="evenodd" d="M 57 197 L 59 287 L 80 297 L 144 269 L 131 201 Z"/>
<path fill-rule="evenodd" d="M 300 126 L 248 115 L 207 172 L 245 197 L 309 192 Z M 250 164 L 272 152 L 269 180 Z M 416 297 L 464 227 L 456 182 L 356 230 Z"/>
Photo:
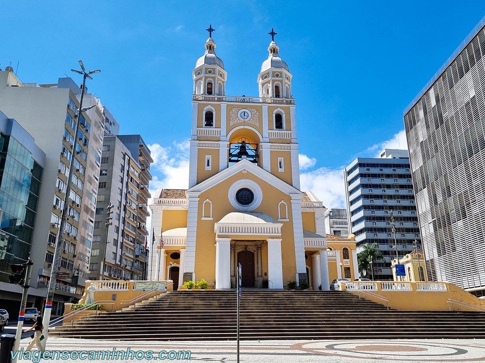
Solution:
<path fill-rule="evenodd" d="M 10 265 L 29 259 L 45 163 L 34 138 L 0 111 L 0 306 L 11 320 L 23 289 L 9 283 Z M 41 304 L 44 296 L 45 290 L 31 288 L 28 306 Z"/>

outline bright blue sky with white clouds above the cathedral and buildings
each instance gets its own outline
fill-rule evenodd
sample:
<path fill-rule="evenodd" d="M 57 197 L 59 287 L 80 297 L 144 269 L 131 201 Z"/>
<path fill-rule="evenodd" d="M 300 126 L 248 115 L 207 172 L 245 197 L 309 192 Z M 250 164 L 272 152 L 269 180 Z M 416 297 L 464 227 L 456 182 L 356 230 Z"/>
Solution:
<path fill-rule="evenodd" d="M 81 6 L 79 4 L 82 4 Z M 344 207 L 342 167 L 405 147 L 403 109 L 485 15 L 484 1 L 3 1 L 0 67 L 24 82 L 101 69 L 88 89 L 141 134 L 150 189 L 184 188 L 191 71 L 211 23 L 227 95 L 257 95 L 271 28 L 293 74 L 302 189 Z M 82 14 L 80 14 L 82 12 Z M 82 25 L 78 24 L 82 20 Z M 17 69 L 17 62 L 19 64 Z M 398 136 L 396 136 L 398 135 Z"/>

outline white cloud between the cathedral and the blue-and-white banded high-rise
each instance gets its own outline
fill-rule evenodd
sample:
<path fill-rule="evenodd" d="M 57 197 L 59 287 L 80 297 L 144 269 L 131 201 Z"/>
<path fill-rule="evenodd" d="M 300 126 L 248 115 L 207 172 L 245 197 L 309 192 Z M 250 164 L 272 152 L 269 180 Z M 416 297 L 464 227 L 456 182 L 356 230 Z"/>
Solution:
<path fill-rule="evenodd" d="M 301 190 L 311 190 L 327 208 L 345 208 L 343 168 L 321 167 L 300 174 Z"/>

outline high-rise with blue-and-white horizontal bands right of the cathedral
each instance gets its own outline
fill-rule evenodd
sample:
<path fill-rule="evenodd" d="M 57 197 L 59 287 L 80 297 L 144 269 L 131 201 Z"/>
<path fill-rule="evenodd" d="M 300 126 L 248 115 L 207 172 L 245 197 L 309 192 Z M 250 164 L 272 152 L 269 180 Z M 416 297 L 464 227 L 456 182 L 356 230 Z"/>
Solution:
<path fill-rule="evenodd" d="M 400 258 L 420 244 L 418 213 L 406 150 L 385 149 L 379 158 L 357 158 L 344 170 L 349 226 L 356 235 L 357 252 L 377 243 L 385 261 L 374 261 L 374 279 L 392 280 L 390 262 L 396 244 L 390 212 L 394 213 Z"/>

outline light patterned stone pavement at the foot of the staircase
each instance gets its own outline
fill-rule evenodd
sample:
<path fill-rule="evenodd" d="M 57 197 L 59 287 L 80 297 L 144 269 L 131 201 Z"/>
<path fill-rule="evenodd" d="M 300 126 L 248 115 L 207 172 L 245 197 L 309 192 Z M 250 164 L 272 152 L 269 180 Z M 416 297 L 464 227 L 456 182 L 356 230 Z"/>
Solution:
<path fill-rule="evenodd" d="M 25 348 L 30 339 L 22 339 Z M 160 352 L 191 350 L 190 361 L 236 362 L 235 341 L 126 342 L 50 337 L 48 350 L 124 350 Z M 96 360 L 153 362 L 153 360 Z M 168 359 L 165 362 L 169 361 Z M 242 341 L 241 362 L 485 362 L 484 339 L 309 340 Z M 21 360 L 19 362 L 28 362 Z M 95 362 L 93 360 L 42 360 L 41 362 Z"/>

